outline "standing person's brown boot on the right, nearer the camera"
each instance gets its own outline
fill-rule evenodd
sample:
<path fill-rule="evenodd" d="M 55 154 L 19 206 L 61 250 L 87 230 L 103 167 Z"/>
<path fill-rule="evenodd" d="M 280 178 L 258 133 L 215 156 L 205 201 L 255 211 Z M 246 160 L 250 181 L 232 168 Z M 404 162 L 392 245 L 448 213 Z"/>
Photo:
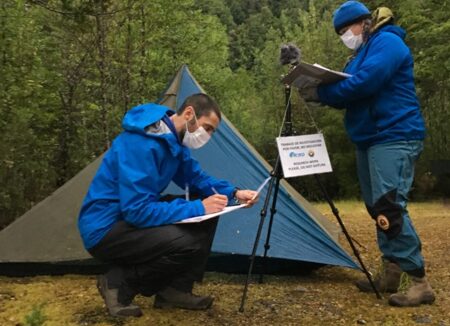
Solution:
<path fill-rule="evenodd" d="M 433 289 L 427 278 L 403 273 L 399 291 L 389 297 L 389 304 L 397 307 L 415 307 L 432 304 L 435 300 Z"/>

